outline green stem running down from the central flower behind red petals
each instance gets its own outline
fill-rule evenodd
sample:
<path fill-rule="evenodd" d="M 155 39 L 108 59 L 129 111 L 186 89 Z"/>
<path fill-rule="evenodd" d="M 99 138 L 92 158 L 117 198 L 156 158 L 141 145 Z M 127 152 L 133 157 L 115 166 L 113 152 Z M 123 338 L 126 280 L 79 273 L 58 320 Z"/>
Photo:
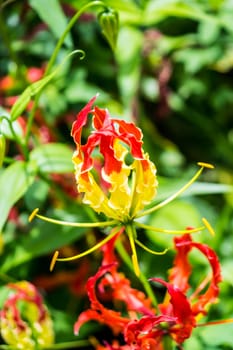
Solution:
<path fill-rule="evenodd" d="M 124 261 L 126 266 L 129 268 L 129 270 L 134 272 L 132 260 L 130 259 L 129 254 L 126 252 L 121 240 L 119 240 L 119 239 L 116 242 L 116 249 L 117 249 L 117 252 L 120 255 L 121 259 Z M 138 276 L 138 278 L 139 278 L 140 282 L 142 283 L 143 288 L 144 288 L 146 294 L 148 295 L 148 297 L 150 298 L 153 306 L 157 307 L 158 303 L 157 303 L 156 297 L 154 295 L 154 292 L 151 288 L 151 284 L 149 283 L 149 281 L 145 277 L 145 275 L 142 273 L 142 271 L 140 271 L 140 275 Z"/>

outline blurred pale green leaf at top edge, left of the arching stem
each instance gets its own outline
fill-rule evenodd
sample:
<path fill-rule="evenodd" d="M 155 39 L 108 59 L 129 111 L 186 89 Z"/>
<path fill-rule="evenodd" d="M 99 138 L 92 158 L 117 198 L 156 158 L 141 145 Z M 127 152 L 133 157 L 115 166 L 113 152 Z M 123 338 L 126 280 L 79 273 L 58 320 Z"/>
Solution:
<path fill-rule="evenodd" d="M 54 36 L 59 39 L 67 26 L 67 19 L 62 11 L 58 0 L 30 0 L 31 7 L 38 13 L 40 18 L 48 25 Z M 49 8 L 48 8 L 49 6 Z M 72 47 L 71 36 L 65 39 L 65 44 Z"/>

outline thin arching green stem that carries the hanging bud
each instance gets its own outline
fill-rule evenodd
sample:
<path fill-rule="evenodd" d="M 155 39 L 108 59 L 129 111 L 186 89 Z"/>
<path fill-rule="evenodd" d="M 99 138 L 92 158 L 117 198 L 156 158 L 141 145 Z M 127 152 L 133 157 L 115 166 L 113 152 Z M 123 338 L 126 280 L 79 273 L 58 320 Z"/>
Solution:
<path fill-rule="evenodd" d="M 94 7 L 94 6 L 104 6 L 106 7 L 106 5 L 102 2 L 102 1 L 93 1 L 93 2 L 89 2 L 88 4 L 84 5 L 69 21 L 66 29 L 64 30 L 62 36 L 60 37 L 60 39 L 57 42 L 57 45 L 53 51 L 53 54 L 48 62 L 48 65 L 46 67 L 45 73 L 44 73 L 44 77 L 46 77 L 49 73 L 50 70 L 58 56 L 58 53 L 64 43 L 64 40 L 67 36 L 67 34 L 70 32 L 71 28 L 74 26 L 74 24 L 77 22 L 78 18 L 89 8 Z M 40 95 L 41 93 L 38 93 L 35 97 L 35 101 L 33 104 L 33 107 L 31 109 L 31 112 L 29 114 L 28 117 L 28 123 L 27 123 L 27 130 L 26 130 L 26 136 L 25 136 L 25 144 L 28 144 L 28 140 L 29 140 L 29 136 L 30 136 L 30 132 L 31 132 L 31 127 L 32 127 L 32 123 L 33 123 L 33 119 L 35 116 L 35 112 L 39 103 L 39 99 L 40 99 Z"/>

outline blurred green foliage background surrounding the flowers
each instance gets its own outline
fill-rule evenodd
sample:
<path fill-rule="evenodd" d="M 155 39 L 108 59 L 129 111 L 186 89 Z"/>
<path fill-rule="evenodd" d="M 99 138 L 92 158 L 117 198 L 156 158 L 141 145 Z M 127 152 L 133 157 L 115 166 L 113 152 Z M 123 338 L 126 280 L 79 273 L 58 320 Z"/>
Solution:
<path fill-rule="evenodd" d="M 27 279 L 45 289 L 58 342 L 75 340 L 73 323 L 87 303 L 82 288 L 100 253 L 91 258 L 94 266 L 87 263 L 82 281 L 81 261 L 59 265 L 47 290 L 42 277 L 50 276 L 51 254 L 58 248 L 64 254 L 84 250 L 101 233 L 29 224 L 27 218 L 40 207 L 61 220 L 95 220 L 76 198 L 70 129 L 96 93 L 99 106 L 141 127 L 144 148 L 158 169 L 156 200 L 180 188 L 197 161 L 215 165 L 182 198 L 146 220 L 183 229 L 208 218 L 216 236 L 196 238 L 217 251 L 224 277 L 211 319 L 233 315 L 233 1 L 104 0 L 119 16 L 115 48 L 101 32 L 101 3 L 0 2 L 1 284 Z M 74 50 L 85 57 L 71 55 Z M 153 248 L 172 245 L 172 237 L 140 234 Z M 166 276 L 172 258 L 171 250 L 161 266 L 159 256 L 140 252 L 147 277 Z M 198 273 L 205 264 L 194 260 Z M 78 287 L 56 282 L 59 271 L 76 276 Z M 83 337 L 92 332 L 85 328 Z M 199 327 L 184 348 L 232 349 L 232 343 L 231 325 Z"/>

